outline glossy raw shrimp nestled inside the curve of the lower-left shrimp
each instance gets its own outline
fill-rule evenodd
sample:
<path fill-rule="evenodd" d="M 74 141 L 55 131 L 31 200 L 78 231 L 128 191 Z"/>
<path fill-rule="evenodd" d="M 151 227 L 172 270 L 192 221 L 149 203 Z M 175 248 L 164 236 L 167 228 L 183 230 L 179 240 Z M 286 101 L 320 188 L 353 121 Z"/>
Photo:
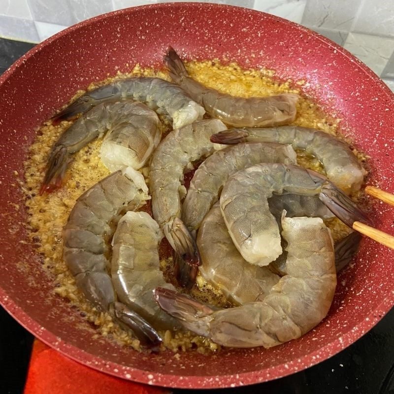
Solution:
<path fill-rule="evenodd" d="M 164 281 L 158 244 L 159 225 L 146 212 L 127 212 L 112 238 L 112 284 L 118 299 L 156 329 L 173 329 L 179 323 L 166 314 L 153 298 L 158 287 L 175 290 Z"/>

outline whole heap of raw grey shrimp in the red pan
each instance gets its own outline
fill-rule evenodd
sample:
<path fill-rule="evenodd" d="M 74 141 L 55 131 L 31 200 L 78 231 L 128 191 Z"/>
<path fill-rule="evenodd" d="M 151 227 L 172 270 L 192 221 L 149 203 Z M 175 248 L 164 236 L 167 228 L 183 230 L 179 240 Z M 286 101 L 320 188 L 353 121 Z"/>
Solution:
<path fill-rule="evenodd" d="M 53 146 L 40 193 L 60 186 L 70 155 L 104 133 L 100 157 L 115 171 L 76 200 L 63 230 L 64 260 L 86 298 L 142 345 L 158 347 L 157 330 L 182 326 L 232 347 L 298 338 L 328 312 L 335 259 L 338 270 L 360 242 L 351 233 L 334 250 L 322 218 L 367 222 L 345 194 L 360 189 L 365 171 L 345 143 L 322 131 L 227 130 L 291 123 L 298 95 L 231 97 L 189 77 L 171 47 L 164 62 L 179 86 L 118 80 L 53 118 L 82 113 Z M 163 140 L 153 110 L 172 120 Z M 202 120 L 205 110 L 216 119 Z M 317 157 L 327 177 L 293 165 L 293 148 Z M 186 193 L 184 174 L 201 160 Z M 147 164 L 149 194 L 136 171 Z M 149 198 L 154 219 L 138 211 Z M 163 234 L 175 251 L 179 285 L 192 287 L 199 271 L 237 306 L 212 309 L 166 283 Z"/>

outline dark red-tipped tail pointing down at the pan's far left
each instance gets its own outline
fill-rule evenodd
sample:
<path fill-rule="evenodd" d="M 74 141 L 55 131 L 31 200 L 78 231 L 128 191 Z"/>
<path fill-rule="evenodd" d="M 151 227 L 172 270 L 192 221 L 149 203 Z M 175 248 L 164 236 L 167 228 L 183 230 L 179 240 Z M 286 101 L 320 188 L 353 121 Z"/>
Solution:
<path fill-rule="evenodd" d="M 67 167 L 68 151 L 63 145 L 57 146 L 49 158 L 48 169 L 45 173 L 39 194 L 51 193 L 62 185 Z"/>

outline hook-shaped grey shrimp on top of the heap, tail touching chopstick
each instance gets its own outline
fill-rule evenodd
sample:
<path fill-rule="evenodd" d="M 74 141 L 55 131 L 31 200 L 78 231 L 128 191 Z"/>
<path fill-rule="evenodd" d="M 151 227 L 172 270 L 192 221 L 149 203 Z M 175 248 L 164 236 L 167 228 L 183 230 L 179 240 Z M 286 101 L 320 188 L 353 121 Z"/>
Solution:
<path fill-rule="evenodd" d="M 283 192 L 319 196 L 346 225 L 367 222 L 365 215 L 327 177 L 284 164 L 257 164 L 232 175 L 223 188 L 220 206 L 235 246 L 252 264 L 266 265 L 281 253 L 281 238 L 267 199 Z"/>

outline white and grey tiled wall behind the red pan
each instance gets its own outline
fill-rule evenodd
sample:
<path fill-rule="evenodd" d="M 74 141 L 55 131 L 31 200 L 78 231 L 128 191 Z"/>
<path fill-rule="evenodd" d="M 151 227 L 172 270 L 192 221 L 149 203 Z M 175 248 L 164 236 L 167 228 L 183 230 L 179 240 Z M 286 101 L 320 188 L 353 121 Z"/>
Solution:
<path fill-rule="evenodd" d="M 394 80 L 394 0 L 202 1 L 301 23 L 343 45 L 382 78 Z M 0 0 L 0 37 L 39 42 L 92 16 L 155 2 L 165 0 Z"/>

